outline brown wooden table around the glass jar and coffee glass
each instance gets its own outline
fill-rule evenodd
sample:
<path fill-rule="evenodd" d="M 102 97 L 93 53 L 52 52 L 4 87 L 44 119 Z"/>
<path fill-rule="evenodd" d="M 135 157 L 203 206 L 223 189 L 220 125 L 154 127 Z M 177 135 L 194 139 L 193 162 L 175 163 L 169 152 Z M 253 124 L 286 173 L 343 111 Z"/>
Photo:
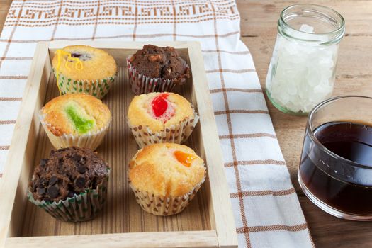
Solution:
<path fill-rule="evenodd" d="M 237 0 L 242 40 L 249 47 L 264 88 L 276 38 L 279 13 L 301 1 Z M 334 96 L 372 96 L 372 1 L 312 1 L 329 6 L 346 19 L 346 35 L 339 50 Z M 4 25 L 11 0 L 0 1 L 0 27 Z M 297 168 L 305 130 L 305 117 L 285 115 L 267 101 L 281 150 L 298 193 L 312 239 L 317 247 L 372 247 L 371 222 L 339 220 L 313 205 L 300 190 Z M 371 107 L 371 106 L 369 106 Z"/>

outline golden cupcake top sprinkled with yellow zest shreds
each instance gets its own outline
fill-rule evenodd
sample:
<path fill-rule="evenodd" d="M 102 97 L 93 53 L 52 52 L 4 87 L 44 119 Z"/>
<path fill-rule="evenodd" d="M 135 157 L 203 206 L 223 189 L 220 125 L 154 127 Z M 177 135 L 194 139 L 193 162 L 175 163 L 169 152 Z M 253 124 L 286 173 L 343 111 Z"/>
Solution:
<path fill-rule="evenodd" d="M 88 45 L 69 45 L 62 50 L 64 52 L 60 56 L 55 53 L 52 67 L 69 79 L 98 80 L 116 74 L 115 60 L 104 50 Z M 71 54 L 72 59 L 69 59 L 67 53 Z"/>

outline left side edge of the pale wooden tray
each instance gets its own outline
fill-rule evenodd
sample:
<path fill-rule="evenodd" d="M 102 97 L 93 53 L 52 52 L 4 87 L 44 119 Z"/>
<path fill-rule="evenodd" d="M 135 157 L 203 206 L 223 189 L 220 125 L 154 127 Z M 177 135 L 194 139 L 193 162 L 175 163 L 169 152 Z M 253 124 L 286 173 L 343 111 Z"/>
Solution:
<path fill-rule="evenodd" d="M 5 239 L 11 232 L 9 226 L 16 196 L 23 194 L 23 198 L 26 199 L 26 192 L 18 191 L 18 183 L 23 164 L 26 164 L 29 159 L 33 159 L 33 151 L 26 151 L 26 149 L 32 147 L 32 145 L 28 145 L 29 135 L 33 135 L 40 125 L 40 122 L 32 122 L 33 115 L 36 114 L 35 108 L 42 104 L 40 98 L 45 98 L 45 94 L 40 96 L 40 92 L 45 91 L 40 91 L 42 86 L 39 82 L 42 81 L 43 77 L 48 79 L 51 72 L 49 63 L 46 63 L 49 57 L 47 47 L 47 42 L 38 43 L 36 46 L 8 157 L 4 165 L 3 177 L 0 179 L 0 198 L 2 202 L 0 204 L 0 247 L 4 246 Z M 21 218 L 21 216 L 15 216 L 14 218 Z"/>

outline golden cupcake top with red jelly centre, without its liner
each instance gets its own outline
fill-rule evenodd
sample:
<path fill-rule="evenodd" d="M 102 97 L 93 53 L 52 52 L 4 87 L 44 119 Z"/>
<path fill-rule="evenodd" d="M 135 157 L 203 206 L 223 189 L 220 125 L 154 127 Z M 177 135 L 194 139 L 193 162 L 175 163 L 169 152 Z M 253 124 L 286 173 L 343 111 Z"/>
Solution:
<path fill-rule="evenodd" d="M 186 118 L 195 118 L 191 103 L 175 93 L 155 92 L 135 96 L 128 109 L 130 125 L 147 126 L 152 132 L 165 130 Z"/>

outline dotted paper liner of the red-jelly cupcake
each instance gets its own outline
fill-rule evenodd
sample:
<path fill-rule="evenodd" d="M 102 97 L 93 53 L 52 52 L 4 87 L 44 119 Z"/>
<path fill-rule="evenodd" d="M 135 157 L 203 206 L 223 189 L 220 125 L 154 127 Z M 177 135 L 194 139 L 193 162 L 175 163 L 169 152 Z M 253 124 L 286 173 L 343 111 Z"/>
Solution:
<path fill-rule="evenodd" d="M 164 142 L 177 144 L 185 142 L 191 133 L 193 133 L 193 129 L 195 128 L 196 124 L 198 124 L 199 116 L 195 111 L 193 111 L 193 116 L 193 119 L 186 118 L 180 121 L 179 124 L 171 125 L 169 128 L 155 133 L 152 132 L 148 126 L 132 126 L 130 125 L 129 120 L 127 122 L 130 130 L 135 136 L 137 145 L 142 148 L 146 145 Z"/>

